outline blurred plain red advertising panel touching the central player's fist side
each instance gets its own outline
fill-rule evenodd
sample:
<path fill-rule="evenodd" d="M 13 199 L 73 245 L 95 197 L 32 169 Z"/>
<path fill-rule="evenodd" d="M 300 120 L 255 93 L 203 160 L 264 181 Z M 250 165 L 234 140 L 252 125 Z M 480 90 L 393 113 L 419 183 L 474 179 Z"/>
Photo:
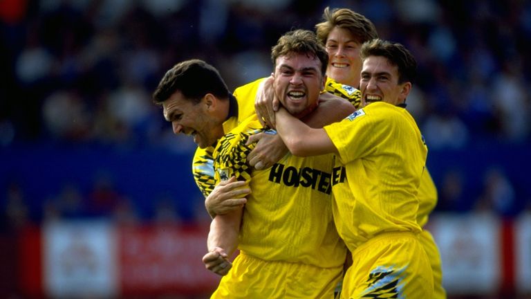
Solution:
<path fill-rule="evenodd" d="M 209 294 L 220 277 L 201 261 L 208 225 L 120 228 L 120 289 L 124 295 Z"/>

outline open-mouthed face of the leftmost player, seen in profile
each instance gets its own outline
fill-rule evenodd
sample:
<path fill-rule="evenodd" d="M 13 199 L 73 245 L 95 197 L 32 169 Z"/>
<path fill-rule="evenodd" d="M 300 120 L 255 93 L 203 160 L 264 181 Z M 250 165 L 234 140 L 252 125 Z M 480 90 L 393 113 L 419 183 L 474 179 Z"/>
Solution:
<path fill-rule="evenodd" d="M 195 103 L 176 91 L 162 102 L 162 113 L 171 122 L 175 134 L 192 135 L 198 147 L 205 148 L 223 136 L 223 121 L 212 114 L 214 101 L 216 98 L 207 93 L 201 102 Z"/>

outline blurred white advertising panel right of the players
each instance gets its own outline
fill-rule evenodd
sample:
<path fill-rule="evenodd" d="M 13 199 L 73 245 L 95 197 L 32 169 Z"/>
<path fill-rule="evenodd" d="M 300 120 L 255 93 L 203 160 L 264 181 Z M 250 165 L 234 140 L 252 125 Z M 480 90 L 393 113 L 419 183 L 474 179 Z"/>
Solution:
<path fill-rule="evenodd" d="M 500 221 L 493 215 L 434 215 L 443 286 L 452 294 L 492 294 L 501 282 Z"/>

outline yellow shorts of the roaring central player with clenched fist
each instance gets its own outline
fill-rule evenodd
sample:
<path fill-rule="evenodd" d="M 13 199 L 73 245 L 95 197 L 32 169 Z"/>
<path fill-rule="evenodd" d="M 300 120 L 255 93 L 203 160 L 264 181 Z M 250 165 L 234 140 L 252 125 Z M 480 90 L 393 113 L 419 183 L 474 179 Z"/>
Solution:
<path fill-rule="evenodd" d="M 343 266 L 265 261 L 240 253 L 210 298 L 334 298 Z"/>

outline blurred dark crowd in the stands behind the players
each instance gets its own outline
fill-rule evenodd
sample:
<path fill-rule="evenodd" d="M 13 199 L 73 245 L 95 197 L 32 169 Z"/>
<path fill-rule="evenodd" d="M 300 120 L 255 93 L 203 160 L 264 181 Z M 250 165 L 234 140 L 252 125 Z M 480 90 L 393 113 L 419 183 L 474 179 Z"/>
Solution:
<path fill-rule="evenodd" d="M 531 149 L 531 1 L 1 0 L 0 153 L 43 146 L 156 150 L 185 157 L 161 170 L 191 177 L 192 138 L 175 136 L 151 103 L 165 71 L 201 58 L 234 90 L 269 75 L 271 46 L 288 30 L 314 30 L 326 6 L 360 12 L 380 37 L 415 55 L 419 75 L 407 109 L 430 153 Z M 460 170 L 435 168 L 436 211 L 511 216 L 531 208 L 526 169 L 484 167 L 478 188 L 470 189 Z M 91 190 L 65 183 L 39 194 L 38 212 L 30 212 L 36 201 L 28 199 L 27 182 L 0 181 L 4 221 L 102 214 L 134 221 L 131 207 L 142 205 L 115 188 L 117 179 L 97 176 Z M 150 219 L 207 217 L 175 208 L 197 201 L 200 210 L 201 197 L 143 200 L 153 205 Z"/>

